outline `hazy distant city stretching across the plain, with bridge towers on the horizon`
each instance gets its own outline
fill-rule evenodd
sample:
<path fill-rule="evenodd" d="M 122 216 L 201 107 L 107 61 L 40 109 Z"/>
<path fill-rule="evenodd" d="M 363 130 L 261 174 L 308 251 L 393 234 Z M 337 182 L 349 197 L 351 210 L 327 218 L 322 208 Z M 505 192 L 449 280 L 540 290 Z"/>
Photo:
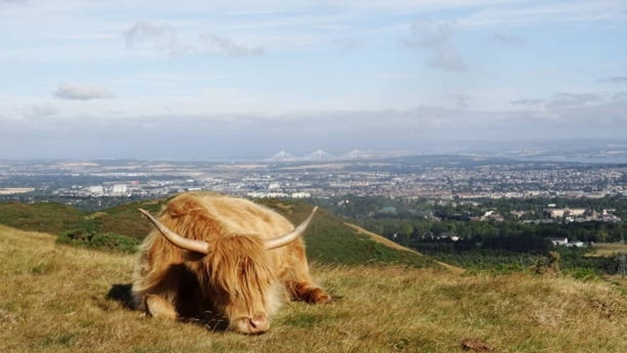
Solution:
<path fill-rule="evenodd" d="M 0 200 L 158 198 L 211 190 L 252 198 L 602 198 L 627 195 L 627 164 L 322 150 L 262 162 L 0 161 Z"/>

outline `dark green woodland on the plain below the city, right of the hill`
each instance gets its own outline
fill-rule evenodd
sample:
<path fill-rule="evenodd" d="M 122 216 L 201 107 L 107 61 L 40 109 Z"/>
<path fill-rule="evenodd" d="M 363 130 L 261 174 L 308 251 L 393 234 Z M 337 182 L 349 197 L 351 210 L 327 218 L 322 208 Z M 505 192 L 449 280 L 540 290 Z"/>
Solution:
<path fill-rule="evenodd" d="M 627 198 L 599 199 L 485 199 L 452 200 L 390 199 L 351 196 L 318 200 L 324 207 L 365 229 L 398 244 L 416 249 L 440 261 L 464 268 L 521 270 L 549 261 L 551 251 L 560 254 L 566 269 L 577 273 L 616 273 L 617 258 L 590 258 L 587 249 L 553 246 L 550 238 L 570 242 L 627 241 L 625 222 L 566 222 L 549 220 L 542 210 L 558 208 L 612 209 L 624 218 Z M 527 211 L 524 217 L 512 211 Z M 471 220 L 493 211 L 503 220 Z M 533 222 L 525 222 L 534 220 Z"/>

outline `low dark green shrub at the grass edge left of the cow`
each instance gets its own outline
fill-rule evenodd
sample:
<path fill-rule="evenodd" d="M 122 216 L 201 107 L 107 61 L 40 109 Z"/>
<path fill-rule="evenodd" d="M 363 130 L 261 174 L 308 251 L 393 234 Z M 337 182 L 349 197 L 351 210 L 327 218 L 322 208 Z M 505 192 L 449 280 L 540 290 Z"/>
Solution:
<path fill-rule="evenodd" d="M 125 237 L 115 233 L 95 233 L 86 229 L 74 229 L 63 232 L 57 237 L 57 244 L 69 244 L 82 246 L 88 249 L 100 249 L 107 251 L 122 251 L 133 253 L 137 251 L 139 239 Z"/>

